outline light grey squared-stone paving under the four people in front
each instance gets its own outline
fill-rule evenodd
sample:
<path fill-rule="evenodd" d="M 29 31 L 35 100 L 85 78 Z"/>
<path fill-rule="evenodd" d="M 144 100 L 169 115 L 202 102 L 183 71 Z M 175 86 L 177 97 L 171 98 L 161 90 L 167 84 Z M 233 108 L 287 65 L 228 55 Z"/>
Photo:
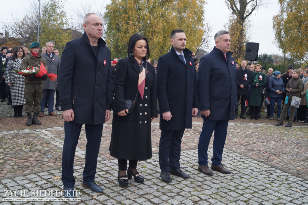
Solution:
<path fill-rule="evenodd" d="M 129 187 L 118 185 L 117 160 L 108 159 L 98 163 L 95 181 L 104 189 L 103 193 L 94 193 L 81 186 L 83 165 L 75 166 L 75 189 L 80 190 L 82 202 L 79 204 L 307 204 L 308 182 L 289 173 L 275 169 L 231 150 L 225 150 L 225 167 L 232 174 L 214 171 L 214 176 L 206 176 L 197 169 L 197 150 L 184 150 L 181 153 L 181 168 L 190 175 L 183 179 L 171 175 L 172 182 L 160 179 L 158 154 L 150 160 L 139 162 L 138 170 L 145 178 L 139 184 L 129 180 Z M 32 173 L 0 180 L 0 201 L 5 190 L 60 190 L 63 188 L 60 169 Z M 9 204 L 0 202 L 0 205 Z M 15 203 L 21 204 L 21 203 Z M 27 203 L 39 205 L 43 202 Z M 64 204 L 45 202 L 45 204 Z M 77 203 L 73 203 L 77 204 Z"/>

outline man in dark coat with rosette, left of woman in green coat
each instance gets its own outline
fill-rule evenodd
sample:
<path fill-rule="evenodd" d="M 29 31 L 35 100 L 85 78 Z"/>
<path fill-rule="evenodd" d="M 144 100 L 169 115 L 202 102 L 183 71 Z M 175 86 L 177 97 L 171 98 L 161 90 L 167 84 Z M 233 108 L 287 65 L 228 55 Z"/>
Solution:
<path fill-rule="evenodd" d="M 241 98 L 241 118 L 246 119 L 245 114 L 245 101 L 248 95 L 249 83 L 251 80 L 251 72 L 250 69 L 246 68 L 246 60 L 241 60 L 241 68 L 236 69 L 237 71 L 237 102 Z M 238 106 L 235 107 L 235 117 L 237 118 L 237 109 Z"/>

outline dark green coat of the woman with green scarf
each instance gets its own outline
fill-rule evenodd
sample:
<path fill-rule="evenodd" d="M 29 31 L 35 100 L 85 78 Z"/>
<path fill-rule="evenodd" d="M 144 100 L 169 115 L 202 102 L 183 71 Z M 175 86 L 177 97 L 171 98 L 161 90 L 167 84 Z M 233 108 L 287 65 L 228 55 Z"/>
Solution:
<path fill-rule="evenodd" d="M 262 76 L 262 79 L 259 80 L 258 87 L 256 86 L 256 83 L 253 82 L 256 75 Z M 262 91 L 263 91 L 263 88 L 266 85 L 265 74 L 262 73 L 262 72 L 260 72 L 260 74 L 257 73 L 257 72 L 253 72 L 251 74 L 250 85 L 251 85 L 251 88 L 250 88 L 250 92 L 249 92 L 249 105 L 260 106 L 261 105 L 261 99 L 263 97 Z"/>

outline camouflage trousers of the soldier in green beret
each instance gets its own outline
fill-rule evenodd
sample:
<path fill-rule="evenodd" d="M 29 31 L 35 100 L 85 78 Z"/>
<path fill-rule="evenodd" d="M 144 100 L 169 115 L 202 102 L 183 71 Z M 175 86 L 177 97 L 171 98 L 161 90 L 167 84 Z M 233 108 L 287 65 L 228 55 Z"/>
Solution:
<path fill-rule="evenodd" d="M 26 113 L 41 112 L 43 98 L 43 83 L 25 83 Z"/>

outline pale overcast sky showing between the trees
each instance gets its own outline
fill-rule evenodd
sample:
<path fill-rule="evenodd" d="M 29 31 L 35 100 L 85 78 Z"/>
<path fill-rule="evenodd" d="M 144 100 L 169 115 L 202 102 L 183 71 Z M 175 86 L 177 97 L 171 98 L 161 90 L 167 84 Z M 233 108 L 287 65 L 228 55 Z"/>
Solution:
<path fill-rule="evenodd" d="M 12 17 L 18 16 L 22 18 L 25 15 L 25 9 L 28 9 L 30 2 L 39 3 L 38 0 L 13 0 L 13 1 L 2 1 L 2 16 L 0 18 L 0 32 L 4 33 L 4 28 L 2 21 L 10 22 Z M 63 0 L 65 4 L 65 11 L 67 16 L 71 18 L 76 18 L 76 10 L 81 10 L 81 5 L 85 0 Z M 93 5 L 93 11 L 95 12 L 97 7 L 105 6 L 110 2 L 110 0 L 90 0 Z M 228 21 L 230 11 L 225 4 L 225 0 L 207 0 L 208 4 L 205 6 L 205 21 L 209 22 L 212 27 L 212 39 L 214 34 L 224 29 L 224 25 Z M 250 42 L 260 43 L 259 54 L 281 54 L 281 51 L 273 43 L 274 31 L 272 19 L 275 14 L 278 13 L 278 0 L 263 0 L 266 3 L 265 6 L 260 7 L 255 10 L 250 16 L 251 27 L 250 30 Z M 6 15 L 4 14 L 6 12 Z M 232 39 L 231 39 L 232 41 Z M 212 41 L 212 47 L 215 45 L 214 40 Z M 231 42 L 232 43 L 232 42 Z"/>

